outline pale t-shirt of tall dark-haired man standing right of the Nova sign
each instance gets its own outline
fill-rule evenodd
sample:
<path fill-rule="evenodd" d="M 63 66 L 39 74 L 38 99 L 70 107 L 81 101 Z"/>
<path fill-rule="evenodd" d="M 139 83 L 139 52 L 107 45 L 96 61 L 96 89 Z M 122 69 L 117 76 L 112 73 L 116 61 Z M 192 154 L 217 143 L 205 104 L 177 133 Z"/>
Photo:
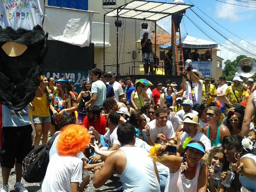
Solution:
<path fill-rule="evenodd" d="M 97 101 L 93 105 L 97 105 L 102 108 L 104 100 L 106 100 L 107 87 L 100 79 L 92 83 L 92 94 L 97 93 Z"/>

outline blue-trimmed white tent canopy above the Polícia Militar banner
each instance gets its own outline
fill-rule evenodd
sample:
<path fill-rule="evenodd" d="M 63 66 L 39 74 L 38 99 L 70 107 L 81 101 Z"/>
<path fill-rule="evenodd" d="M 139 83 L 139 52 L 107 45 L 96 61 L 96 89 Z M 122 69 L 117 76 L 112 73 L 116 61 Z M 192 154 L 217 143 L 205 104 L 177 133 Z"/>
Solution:
<path fill-rule="evenodd" d="M 176 40 L 176 42 L 179 44 L 179 40 Z M 216 43 L 216 42 L 199 39 L 199 38 L 188 36 L 188 35 L 182 37 L 181 42 L 182 42 L 183 48 L 211 49 L 211 48 L 218 47 L 218 43 Z M 169 50 L 169 49 L 171 49 L 171 43 L 167 43 L 165 45 L 160 45 L 159 48 Z"/>

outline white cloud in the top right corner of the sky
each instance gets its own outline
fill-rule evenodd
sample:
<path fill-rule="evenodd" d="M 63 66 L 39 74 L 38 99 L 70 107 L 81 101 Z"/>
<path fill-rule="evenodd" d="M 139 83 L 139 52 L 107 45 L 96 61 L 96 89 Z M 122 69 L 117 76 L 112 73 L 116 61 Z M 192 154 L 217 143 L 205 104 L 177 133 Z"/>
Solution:
<path fill-rule="evenodd" d="M 232 4 L 239 4 L 238 2 L 232 1 L 232 0 L 226 0 L 227 3 Z M 241 21 L 243 19 L 252 18 L 252 14 L 248 12 L 248 10 L 251 10 L 252 8 L 248 7 L 242 7 L 237 5 L 230 5 L 227 3 L 219 2 L 216 6 L 216 17 L 222 18 L 222 19 L 229 19 L 230 21 L 237 22 Z M 245 4 L 241 4 L 245 5 Z M 248 5 L 248 4 L 246 4 Z"/>

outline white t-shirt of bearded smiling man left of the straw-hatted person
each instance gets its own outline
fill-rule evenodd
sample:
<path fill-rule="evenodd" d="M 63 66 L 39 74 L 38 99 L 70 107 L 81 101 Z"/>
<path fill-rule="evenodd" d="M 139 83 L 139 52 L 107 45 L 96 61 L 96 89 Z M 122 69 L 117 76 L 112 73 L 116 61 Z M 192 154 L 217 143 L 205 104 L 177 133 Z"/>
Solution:
<path fill-rule="evenodd" d="M 154 119 L 153 121 L 150 121 L 149 123 L 147 123 L 147 125 L 150 127 L 149 133 L 154 142 L 159 133 L 162 133 L 163 135 L 165 135 L 166 139 L 171 139 L 175 137 L 175 132 L 173 130 L 173 125 L 171 121 L 167 121 L 166 126 L 159 127 L 159 128 L 156 127 L 156 119 Z"/>

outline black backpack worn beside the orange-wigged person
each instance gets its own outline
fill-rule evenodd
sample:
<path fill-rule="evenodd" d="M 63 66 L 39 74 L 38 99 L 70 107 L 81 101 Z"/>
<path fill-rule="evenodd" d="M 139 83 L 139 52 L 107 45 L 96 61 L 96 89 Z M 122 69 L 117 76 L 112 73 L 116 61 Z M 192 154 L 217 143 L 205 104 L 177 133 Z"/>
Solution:
<path fill-rule="evenodd" d="M 23 159 L 22 177 L 26 182 L 39 183 L 43 181 L 50 161 L 49 152 L 58 134 L 54 134 L 48 142 L 32 149 Z"/>

